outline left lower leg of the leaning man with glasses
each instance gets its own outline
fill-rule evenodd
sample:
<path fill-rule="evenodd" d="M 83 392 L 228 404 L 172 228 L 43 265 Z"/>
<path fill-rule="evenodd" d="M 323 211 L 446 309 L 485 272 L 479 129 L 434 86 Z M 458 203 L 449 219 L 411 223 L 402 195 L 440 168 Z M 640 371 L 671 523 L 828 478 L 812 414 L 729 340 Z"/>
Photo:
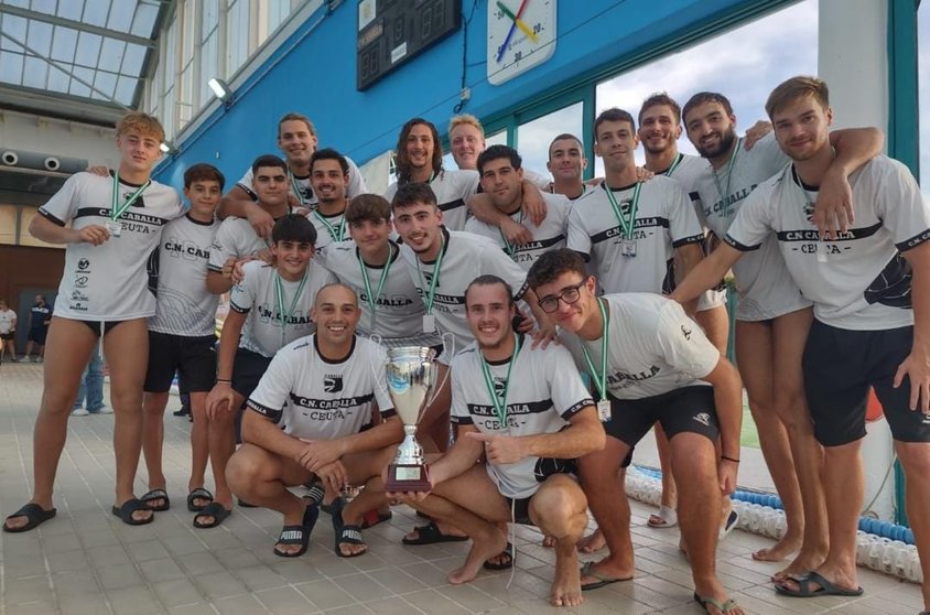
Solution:
<path fill-rule="evenodd" d="M 625 472 L 620 463 L 629 445 L 607 436 L 603 451 L 590 453 L 578 460 L 578 473 L 591 511 L 597 521 L 610 552 L 597 562 L 594 570 L 614 579 L 632 578 L 632 539 L 629 535 L 630 509 L 624 487 Z M 582 586 L 596 579 L 582 578 Z"/>

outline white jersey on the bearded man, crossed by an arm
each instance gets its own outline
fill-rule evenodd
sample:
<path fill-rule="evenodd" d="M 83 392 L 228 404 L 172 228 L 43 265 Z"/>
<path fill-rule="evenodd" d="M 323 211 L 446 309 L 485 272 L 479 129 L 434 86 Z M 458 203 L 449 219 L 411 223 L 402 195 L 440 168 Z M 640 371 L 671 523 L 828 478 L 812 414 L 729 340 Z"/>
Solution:
<path fill-rule="evenodd" d="M 736 160 L 727 177 L 727 166 L 700 175 L 695 187 L 701 198 L 703 222 L 723 239 L 743 202 L 757 185 L 788 164 L 789 159 L 768 134 L 751 150 L 737 142 Z M 716 177 L 716 179 L 715 179 Z M 727 193 L 725 196 L 721 191 Z M 744 256 L 733 266 L 739 301 L 738 321 L 767 321 L 810 306 L 788 273 L 785 259 L 778 251 L 775 237 L 764 241 L 758 250 Z"/>

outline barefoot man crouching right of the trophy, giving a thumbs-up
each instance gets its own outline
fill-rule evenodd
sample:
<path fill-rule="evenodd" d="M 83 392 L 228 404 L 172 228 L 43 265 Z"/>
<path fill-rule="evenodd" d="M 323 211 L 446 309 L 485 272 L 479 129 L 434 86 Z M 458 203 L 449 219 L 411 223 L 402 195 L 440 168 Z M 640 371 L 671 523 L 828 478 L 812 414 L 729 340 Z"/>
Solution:
<path fill-rule="evenodd" d="M 496 524 L 539 527 L 556 540 L 550 602 L 576 606 L 582 594 L 575 542 L 587 524 L 587 500 L 572 472 L 576 457 L 604 447 L 604 429 L 567 350 L 533 348 L 530 338 L 513 333 L 512 296 L 496 276 L 468 285 L 465 310 L 476 342 L 451 368 L 458 439 L 429 465 L 426 488 L 397 490 L 388 476 L 392 488 L 386 490 L 474 541 L 465 564 L 448 575 L 454 584 L 475 579 L 507 546 Z"/>

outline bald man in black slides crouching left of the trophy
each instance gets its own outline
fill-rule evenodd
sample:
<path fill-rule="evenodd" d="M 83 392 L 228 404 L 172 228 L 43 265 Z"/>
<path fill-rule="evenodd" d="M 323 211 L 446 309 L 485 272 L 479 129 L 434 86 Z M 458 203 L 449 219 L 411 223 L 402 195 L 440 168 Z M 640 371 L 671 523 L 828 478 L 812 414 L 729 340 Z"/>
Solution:
<path fill-rule="evenodd" d="M 320 516 L 318 503 L 288 487 L 320 478 L 335 492 L 380 481 L 400 442 L 401 423 L 385 388 L 385 350 L 357 337 L 358 300 L 343 284 L 323 287 L 311 317 L 316 333 L 284 346 L 246 402 L 242 446 L 229 460 L 226 478 L 238 497 L 277 510 L 284 528 L 274 546 L 282 558 L 301 555 Z M 372 424 L 379 412 L 381 422 Z M 365 511 L 383 494 L 364 489 L 331 508 L 335 551 L 365 553 Z"/>

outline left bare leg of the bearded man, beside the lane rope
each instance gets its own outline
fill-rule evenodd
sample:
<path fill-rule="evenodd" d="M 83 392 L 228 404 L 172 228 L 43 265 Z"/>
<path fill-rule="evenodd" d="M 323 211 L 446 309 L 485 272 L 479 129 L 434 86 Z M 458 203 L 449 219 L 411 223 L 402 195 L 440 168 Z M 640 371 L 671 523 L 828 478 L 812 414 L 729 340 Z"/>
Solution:
<path fill-rule="evenodd" d="M 753 553 L 764 561 L 780 561 L 801 548 L 804 517 L 801 489 L 788 443 L 788 432 L 775 411 L 774 343 L 770 325 L 736 322 L 736 358 L 749 396 L 749 410 L 775 489 L 785 506 L 788 529 L 774 547 Z M 800 358 L 799 358 L 800 360 Z"/>

